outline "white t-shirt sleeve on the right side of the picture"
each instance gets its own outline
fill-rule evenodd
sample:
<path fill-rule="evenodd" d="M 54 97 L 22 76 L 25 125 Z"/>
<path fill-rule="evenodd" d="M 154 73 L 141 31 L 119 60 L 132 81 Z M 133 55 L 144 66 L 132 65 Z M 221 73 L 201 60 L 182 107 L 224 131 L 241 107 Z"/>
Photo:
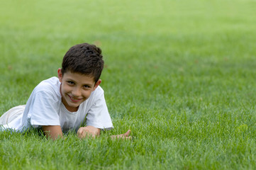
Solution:
<path fill-rule="evenodd" d="M 97 91 L 94 96 L 94 103 L 87 113 L 87 125 L 94 126 L 101 130 L 111 130 L 113 124 L 108 113 L 104 91 Z"/>

